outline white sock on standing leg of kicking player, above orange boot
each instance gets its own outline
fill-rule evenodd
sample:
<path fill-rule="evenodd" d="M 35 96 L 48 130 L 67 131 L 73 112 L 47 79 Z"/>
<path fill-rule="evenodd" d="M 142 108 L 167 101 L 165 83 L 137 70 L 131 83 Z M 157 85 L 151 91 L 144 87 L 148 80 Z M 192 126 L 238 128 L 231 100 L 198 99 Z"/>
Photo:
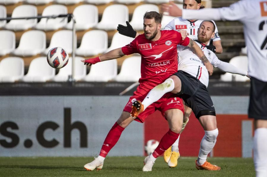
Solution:
<path fill-rule="evenodd" d="M 201 140 L 200 149 L 198 153 L 197 162 L 199 165 L 203 165 L 206 162 L 208 154 L 215 146 L 218 133 L 218 129 L 212 131 L 205 131 L 205 135 Z"/>

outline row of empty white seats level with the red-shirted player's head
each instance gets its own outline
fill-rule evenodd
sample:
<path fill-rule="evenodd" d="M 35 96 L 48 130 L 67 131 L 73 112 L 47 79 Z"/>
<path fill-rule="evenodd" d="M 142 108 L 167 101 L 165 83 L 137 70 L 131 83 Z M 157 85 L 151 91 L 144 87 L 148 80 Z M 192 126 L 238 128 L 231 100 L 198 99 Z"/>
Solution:
<path fill-rule="evenodd" d="M 154 4 L 142 4 L 134 10 L 132 20 L 130 24 L 135 30 L 143 29 L 143 15 L 147 11 L 159 12 L 158 6 Z M 50 5 L 47 6 L 42 16 L 52 16 L 59 14 L 67 14 L 68 10 L 63 5 Z M 122 4 L 110 5 L 104 9 L 102 19 L 98 23 L 98 9 L 94 5 L 80 5 L 73 11 L 76 30 L 88 30 L 90 28 L 97 28 L 101 30 L 116 30 L 118 24 L 125 24 L 125 21 L 129 21 L 128 7 Z M 0 18 L 6 18 L 6 8 L 0 6 Z M 36 17 L 37 8 L 33 5 L 21 5 L 16 7 L 12 12 L 12 17 Z M 72 29 L 73 20 L 68 23 L 67 18 L 42 18 L 39 23 L 37 19 L 29 20 L 10 20 L 6 23 L 5 20 L 0 22 L 0 27 L 8 30 L 21 31 L 29 28 L 35 28 L 37 30 L 51 31 L 58 30 L 60 28 Z M 164 19 L 163 19 L 164 20 Z M 169 19 L 168 19 L 169 20 Z M 168 21 L 169 22 L 169 21 Z M 167 24 L 167 22 L 166 22 Z M 163 26 L 164 27 L 164 26 Z"/>

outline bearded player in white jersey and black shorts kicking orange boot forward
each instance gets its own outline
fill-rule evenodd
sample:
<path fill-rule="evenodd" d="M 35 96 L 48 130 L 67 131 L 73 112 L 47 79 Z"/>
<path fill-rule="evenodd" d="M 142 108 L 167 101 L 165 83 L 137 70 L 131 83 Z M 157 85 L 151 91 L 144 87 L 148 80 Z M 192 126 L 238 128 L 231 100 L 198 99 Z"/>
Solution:
<path fill-rule="evenodd" d="M 199 41 L 197 40 L 196 42 L 198 46 L 202 48 L 207 59 L 213 66 L 221 70 L 244 76 L 247 75 L 247 71 L 243 71 L 229 63 L 220 61 L 212 51 L 206 49 L 206 44 L 214 35 L 214 29 L 215 25 L 212 21 L 203 21 L 198 30 Z M 185 105 L 192 108 L 196 118 L 198 118 L 205 130 L 205 135 L 200 145 L 198 160 L 196 160 L 196 168 L 220 170 L 220 167 L 206 161 L 207 155 L 214 147 L 218 135 L 216 113 L 207 91 L 209 82 L 208 70 L 192 50 L 181 46 L 178 46 L 177 49 L 179 56 L 178 72 L 173 74 L 162 84 L 154 87 L 148 93 L 142 104 L 139 101 L 134 103 L 131 114 L 137 116 L 145 110 L 148 105 L 160 99 L 167 92 L 176 93 L 179 97 L 183 98 Z M 175 167 L 177 165 L 177 158 L 176 162 L 170 159 L 168 165 L 170 167 Z"/>

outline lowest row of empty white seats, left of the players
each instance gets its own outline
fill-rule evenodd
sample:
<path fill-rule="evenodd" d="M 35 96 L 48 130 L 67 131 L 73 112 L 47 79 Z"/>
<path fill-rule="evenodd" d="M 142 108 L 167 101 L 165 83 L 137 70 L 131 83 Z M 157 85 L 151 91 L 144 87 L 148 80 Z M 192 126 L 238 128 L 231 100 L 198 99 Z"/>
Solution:
<path fill-rule="evenodd" d="M 86 65 L 81 62 L 82 57 L 75 57 L 76 81 L 88 82 L 107 82 L 115 80 L 118 82 L 137 82 L 141 77 L 141 57 L 133 56 L 125 59 L 122 64 L 121 72 L 117 75 L 117 60 L 109 60 L 97 63 L 90 68 L 86 74 Z M 28 73 L 24 75 L 24 61 L 19 57 L 8 57 L 0 62 L 0 82 L 66 82 L 71 75 L 72 58 L 68 64 L 59 69 L 55 75 L 55 69 L 47 63 L 46 57 L 38 57 L 31 61 Z M 131 68 L 136 68 L 135 74 L 129 72 Z"/>

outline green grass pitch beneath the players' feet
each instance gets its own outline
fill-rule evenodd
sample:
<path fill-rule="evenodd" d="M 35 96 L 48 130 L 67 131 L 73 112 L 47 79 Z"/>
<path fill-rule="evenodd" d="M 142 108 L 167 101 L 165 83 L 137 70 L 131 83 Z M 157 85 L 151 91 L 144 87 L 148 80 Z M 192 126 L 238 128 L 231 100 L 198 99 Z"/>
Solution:
<path fill-rule="evenodd" d="M 208 158 L 220 171 L 197 170 L 196 157 L 181 157 L 176 168 L 169 168 L 158 157 L 152 172 L 142 172 L 144 157 L 107 157 L 100 171 L 86 171 L 83 165 L 93 157 L 0 157 L 0 176 L 255 176 L 252 158 Z"/>

